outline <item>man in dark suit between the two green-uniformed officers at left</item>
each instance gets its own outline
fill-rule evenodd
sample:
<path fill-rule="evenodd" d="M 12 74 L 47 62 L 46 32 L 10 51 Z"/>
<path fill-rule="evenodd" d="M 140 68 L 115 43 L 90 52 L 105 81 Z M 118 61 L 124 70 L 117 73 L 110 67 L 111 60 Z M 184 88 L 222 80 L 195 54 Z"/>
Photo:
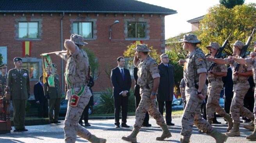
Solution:
<path fill-rule="evenodd" d="M 37 103 L 38 118 L 47 118 L 48 101 L 44 96 L 43 76 L 40 76 L 39 81 L 34 85 L 34 95 Z"/>

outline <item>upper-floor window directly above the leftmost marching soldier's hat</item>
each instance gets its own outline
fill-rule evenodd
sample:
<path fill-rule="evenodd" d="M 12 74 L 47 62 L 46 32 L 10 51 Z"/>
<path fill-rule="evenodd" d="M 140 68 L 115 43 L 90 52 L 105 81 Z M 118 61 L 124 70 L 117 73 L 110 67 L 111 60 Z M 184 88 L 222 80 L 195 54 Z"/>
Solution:
<path fill-rule="evenodd" d="M 92 22 L 74 22 L 73 33 L 84 38 L 92 38 Z"/>

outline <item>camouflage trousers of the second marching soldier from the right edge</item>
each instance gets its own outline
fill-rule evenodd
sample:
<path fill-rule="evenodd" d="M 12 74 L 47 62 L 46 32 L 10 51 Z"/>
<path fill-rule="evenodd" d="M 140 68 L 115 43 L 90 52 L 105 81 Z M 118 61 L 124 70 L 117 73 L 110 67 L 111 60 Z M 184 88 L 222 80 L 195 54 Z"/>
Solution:
<path fill-rule="evenodd" d="M 246 83 L 234 84 L 233 86 L 234 96 L 232 99 L 230 112 L 235 124 L 240 123 L 240 115 L 254 120 L 253 113 L 244 107 L 244 96 L 247 93 L 249 87 L 250 85 L 248 81 Z"/>

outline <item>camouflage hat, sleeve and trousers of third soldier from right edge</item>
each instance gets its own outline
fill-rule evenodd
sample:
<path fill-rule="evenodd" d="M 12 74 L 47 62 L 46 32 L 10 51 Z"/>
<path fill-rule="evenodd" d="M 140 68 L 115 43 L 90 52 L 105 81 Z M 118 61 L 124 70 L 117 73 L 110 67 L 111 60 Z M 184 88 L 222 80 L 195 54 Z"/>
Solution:
<path fill-rule="evenodd" d="M 218 43 L 211 42 L 209 46 L 206 46 L 206 48 L 212 47 L 215 50 L 219 50 L 220 46 Z M 210 65 L 210 63 L 208 63 Z M 213 72 L 228 72 L 226 65 L 224 64 L 215 64 L 215 66 L 212 69 Z M 219 105 L 220 100 L 220 91 L 223 88 L 223 82 L 222 77 L 209 74 L 207 76 L 208 78 L 208 99 L 206 104 L 206 115 L 207 119 L 213 119 L 214 118 L 214 112 L 217 112 L 219 115 L 224 117 L 227 113 L 221 106 Z"/>

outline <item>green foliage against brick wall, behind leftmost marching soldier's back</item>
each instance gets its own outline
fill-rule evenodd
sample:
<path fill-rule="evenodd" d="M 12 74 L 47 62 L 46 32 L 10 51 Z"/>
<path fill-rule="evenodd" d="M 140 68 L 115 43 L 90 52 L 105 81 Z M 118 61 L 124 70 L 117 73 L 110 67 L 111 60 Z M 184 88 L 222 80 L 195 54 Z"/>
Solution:
<path fill-rule="evenodd" d="M 91 51 L 89 48 L 83 48 L 83 50 L 87 53 L 90 69 L 91 69 L 91 76 L 98 77 L 99 76 L 99 61 L 96 59 L 94 52 Z"/>

